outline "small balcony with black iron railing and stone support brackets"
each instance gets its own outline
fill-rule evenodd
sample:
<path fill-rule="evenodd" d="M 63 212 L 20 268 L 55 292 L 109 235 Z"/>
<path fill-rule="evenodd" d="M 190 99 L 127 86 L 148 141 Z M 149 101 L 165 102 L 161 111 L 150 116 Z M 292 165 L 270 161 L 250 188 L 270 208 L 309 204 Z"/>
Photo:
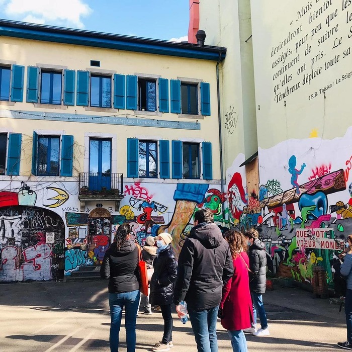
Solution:
<path fill-rule="evenodd" d="M 79 173 L 79 194 L 81 211 L 85 202 L 114 201 L 119 210 L 123 196 L 123 173 L 81 172 Z"/>

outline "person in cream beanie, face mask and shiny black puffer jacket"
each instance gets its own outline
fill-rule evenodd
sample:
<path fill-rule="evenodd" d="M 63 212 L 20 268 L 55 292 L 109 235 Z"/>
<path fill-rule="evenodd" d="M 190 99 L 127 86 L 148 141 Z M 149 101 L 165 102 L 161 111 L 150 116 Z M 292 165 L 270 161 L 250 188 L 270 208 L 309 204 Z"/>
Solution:
<path fill-rule="evenodd" d="M 173 299 L 174 282 L 177 278 L 177 264 L 171 247 L 172 237 L 163 232 L 157 236 L 157 257 L 154 259 L 154 274 L 150 281 L 149 303 L 161 308 L 164 320 L 164 334 L 157 342 L 153 351 L 168 351 L 172 343 L 171 303 Z"/>

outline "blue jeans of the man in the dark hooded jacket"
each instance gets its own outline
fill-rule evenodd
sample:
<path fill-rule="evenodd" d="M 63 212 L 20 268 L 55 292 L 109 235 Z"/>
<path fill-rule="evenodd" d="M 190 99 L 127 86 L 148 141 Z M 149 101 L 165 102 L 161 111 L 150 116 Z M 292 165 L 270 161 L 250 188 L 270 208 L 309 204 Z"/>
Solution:
<path fill-rule="evenodd" d="M 216 321 L 219 306 L 197 312 L 188 309 L 198 352 L 218 352 Z"/>

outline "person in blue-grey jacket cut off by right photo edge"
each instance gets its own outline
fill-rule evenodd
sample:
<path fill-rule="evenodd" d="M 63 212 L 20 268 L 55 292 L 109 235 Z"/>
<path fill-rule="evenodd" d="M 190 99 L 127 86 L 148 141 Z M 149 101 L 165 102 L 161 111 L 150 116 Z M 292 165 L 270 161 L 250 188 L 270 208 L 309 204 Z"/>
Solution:
<path fill-rule="evenodd" d="M 344 302 L 346 314 L 347 340 L 338 342 L 337 345 L 344 349 L 352 350 L 352 235 L 347 236 L 349 249 L 344 256 L 344 261 L 340 268 L 340 274 L 346 277 L 347 290 Z"/>

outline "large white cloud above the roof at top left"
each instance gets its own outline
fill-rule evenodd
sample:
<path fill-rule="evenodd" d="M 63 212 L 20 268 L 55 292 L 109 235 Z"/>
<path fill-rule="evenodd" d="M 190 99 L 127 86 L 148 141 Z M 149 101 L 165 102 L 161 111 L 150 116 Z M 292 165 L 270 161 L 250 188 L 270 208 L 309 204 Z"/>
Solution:
<path fill-rule="evenodd" d="M 84 0 L 10 0 L 5 12 L 16 17 L 24 16 L 22 21 L 25 22 L 83 28 L 81 17 L 90 15 L 92 9 Z"/>

